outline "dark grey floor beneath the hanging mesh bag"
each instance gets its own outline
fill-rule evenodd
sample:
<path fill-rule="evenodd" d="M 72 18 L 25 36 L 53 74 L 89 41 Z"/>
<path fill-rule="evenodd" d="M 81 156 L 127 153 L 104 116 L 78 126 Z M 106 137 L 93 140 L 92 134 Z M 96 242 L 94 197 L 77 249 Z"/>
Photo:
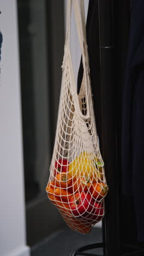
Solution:
<path fill-rule="evenodd" d="M 46 237 L 31 248 L 31 256 L 70 256 L 77 248 L 102 241 L 101 228 L 93 228 L 87 235 L 64 228 Z M 88 253 L 103 255 L 102 249 L 93 249 Z"/>

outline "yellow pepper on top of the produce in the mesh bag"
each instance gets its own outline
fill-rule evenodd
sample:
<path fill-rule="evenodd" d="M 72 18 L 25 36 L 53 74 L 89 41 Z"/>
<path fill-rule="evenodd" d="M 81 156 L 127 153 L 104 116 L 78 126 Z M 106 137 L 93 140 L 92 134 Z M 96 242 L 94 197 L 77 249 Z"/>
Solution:
<path fill-rule="evenodd" d="M 69 174 L 76 180 L 87 177 L 90 182 L 103 181 L 103 163 L 93 153 L 82 152 L 69 165 Z"/>

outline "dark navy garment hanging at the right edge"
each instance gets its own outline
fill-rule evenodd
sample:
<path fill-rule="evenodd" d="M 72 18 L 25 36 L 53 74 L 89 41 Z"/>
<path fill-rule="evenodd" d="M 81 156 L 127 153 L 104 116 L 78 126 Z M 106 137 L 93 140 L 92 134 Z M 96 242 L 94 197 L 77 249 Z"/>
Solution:
<path fill-rule="evenodd" d="M 144 1 L 131 2 L 122 120 L 123 193 L 132 195 L 137 240 L 144 241 Z"/>

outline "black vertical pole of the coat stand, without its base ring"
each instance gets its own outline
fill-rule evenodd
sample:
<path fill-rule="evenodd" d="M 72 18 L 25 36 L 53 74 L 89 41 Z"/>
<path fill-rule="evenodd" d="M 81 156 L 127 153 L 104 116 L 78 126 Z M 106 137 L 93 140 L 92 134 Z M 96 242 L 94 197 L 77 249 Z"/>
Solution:
<path fill-rule="evenodd" d="M 119 256 L 119 193 L 116 145 L 117 103 L 113 70 L 113 0 L 99 0 L 101 116 L 103 158 L 109 193 L 105 199 L 105 255 Z"/>

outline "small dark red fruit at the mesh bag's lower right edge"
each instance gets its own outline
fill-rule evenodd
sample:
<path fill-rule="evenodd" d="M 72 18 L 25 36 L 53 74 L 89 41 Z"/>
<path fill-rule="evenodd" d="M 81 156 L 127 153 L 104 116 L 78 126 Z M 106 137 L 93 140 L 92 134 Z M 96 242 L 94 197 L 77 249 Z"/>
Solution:
<path fill-rule="evenodd" d="M 104 210 L 104 203 L 103 202 L 97 202 L 94 203 L 94 208 L 92 213 L 88 214 L 87 220 L 89 223 L 93 222 L 100 222 L 100 220 L 103 218 L 105 213 Z"/>

